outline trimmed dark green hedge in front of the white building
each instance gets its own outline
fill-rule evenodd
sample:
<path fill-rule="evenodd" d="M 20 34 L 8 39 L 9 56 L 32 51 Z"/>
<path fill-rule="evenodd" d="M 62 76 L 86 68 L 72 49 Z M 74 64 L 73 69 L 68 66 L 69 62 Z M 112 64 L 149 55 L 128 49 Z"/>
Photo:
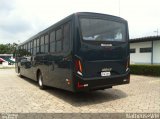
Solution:
<path fill-rule="evenodd" d="M 160 76 L 160 65 L 130 65 L 131 74 Z"/>

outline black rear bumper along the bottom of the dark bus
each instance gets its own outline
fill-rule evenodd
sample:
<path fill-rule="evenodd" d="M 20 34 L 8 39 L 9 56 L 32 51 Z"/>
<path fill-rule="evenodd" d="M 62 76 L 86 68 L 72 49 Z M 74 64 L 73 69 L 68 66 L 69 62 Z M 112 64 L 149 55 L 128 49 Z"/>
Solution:
<path fill-rule="evenodd" d="M 115 85 L 130 83 L 130 71 L 127 71 L 122 75 L 110 77 L 82 78 L 81 76 L 76 75 L 74 80 L 76 92 L 106 89 Z"/>

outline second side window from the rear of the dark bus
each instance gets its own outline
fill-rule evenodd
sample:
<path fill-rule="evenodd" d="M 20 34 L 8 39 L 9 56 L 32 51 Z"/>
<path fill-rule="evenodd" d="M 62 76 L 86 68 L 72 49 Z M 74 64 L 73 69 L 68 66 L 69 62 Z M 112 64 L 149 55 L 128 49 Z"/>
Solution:
<path fill-rule="evenodd" d="M 56 52 L 62 51 L 62 28 L 56 31 Z"/>

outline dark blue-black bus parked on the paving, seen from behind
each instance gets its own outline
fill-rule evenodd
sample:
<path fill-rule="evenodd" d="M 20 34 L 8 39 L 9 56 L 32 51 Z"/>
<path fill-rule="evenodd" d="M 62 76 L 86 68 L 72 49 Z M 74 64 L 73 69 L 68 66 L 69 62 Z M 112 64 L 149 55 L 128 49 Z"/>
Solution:
<path fill-rule="evenodd" d="M 40 89 L 71 92 L 129 84 L 128 23 L 123 18 L 74 13 L 17 46 L 15 69 Z"/>

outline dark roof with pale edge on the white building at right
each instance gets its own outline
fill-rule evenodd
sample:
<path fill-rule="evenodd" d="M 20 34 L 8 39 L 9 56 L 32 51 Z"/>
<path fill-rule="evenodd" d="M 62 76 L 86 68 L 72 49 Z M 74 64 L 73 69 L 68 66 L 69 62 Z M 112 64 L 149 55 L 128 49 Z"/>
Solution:
<path fill-rule="evenodd" d="M 130 43 L 137 43 L 137 42 L 146 42 L 146 41 L 156 41 L 160 40 L 160 36 L 147 36 L 147 37 L 141 37 L 141 38 L 134 38 L 130 39 Z"/>

